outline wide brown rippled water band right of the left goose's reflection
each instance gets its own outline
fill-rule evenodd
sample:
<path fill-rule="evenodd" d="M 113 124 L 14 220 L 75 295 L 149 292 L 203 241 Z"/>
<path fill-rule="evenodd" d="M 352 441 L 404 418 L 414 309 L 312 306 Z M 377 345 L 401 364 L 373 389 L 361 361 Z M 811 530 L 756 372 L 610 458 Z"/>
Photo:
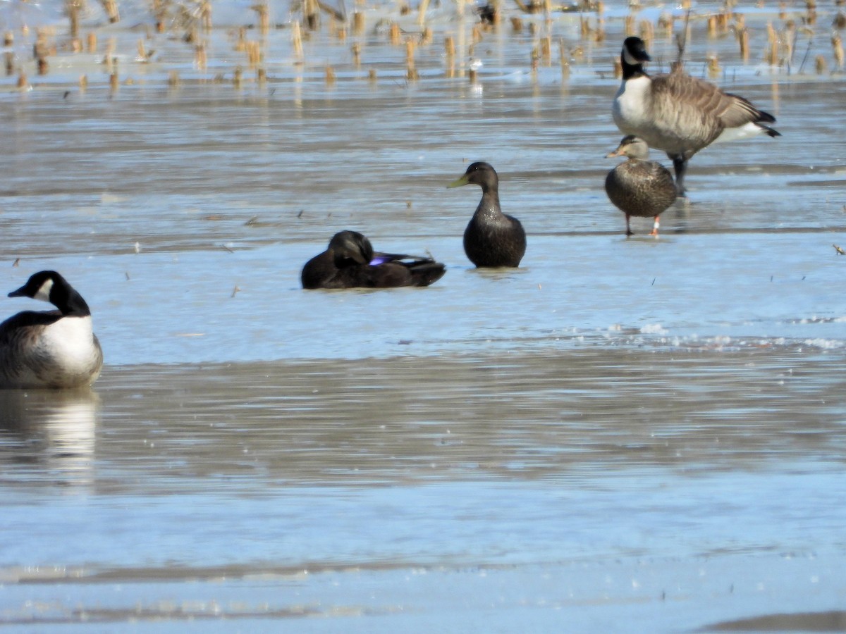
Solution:
<path fill-rule="evenodd" d="M 99 386 L 98 458 L 146 473 L 113 486 L 255 492 L 840 462 L 841 369 L 795 347 L 135 367 Z"/>

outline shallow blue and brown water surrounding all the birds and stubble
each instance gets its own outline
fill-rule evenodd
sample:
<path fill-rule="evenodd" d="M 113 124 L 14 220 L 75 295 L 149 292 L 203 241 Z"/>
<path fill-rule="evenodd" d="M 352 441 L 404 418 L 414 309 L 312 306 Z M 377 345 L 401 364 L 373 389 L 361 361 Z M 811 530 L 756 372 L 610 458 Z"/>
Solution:
<path fill-rule="evenodd" d="M 3 7 L 22 59 L 36 8 L 61 24 Z M 743 9 L 760 49 L 783 21 Z M 118 90 L 87 53 L 32 90 L 0 79 L 0 288 L 61 271 L 107 363 L 91 392 L 0 394 L 0 625 L 842 629 L 844 85 L 798 72 L 804 31 L 788 73 L 695 19 L 689 59 L 718 52 L 783 137 L 704 150 L 661 237 L 635 219 L 627 239 L 602 191 L 618 8 L 601 43 L 574 14 L 525 16 L 582 47 L 567 78 L 533 73 L 535 38 L 506 25 L 449 76 L 442 37 L 466 50 L 474 19 L 433 7 L 408 81 L 376 26 L 395 8 L 365 36 L 324 25 L 300 62 L 274 5 L 263 85 L 231 51 L 245 9 L 216 5 L 207 71 L 176 31 L 140 63 L 146 9 L 98 10 Z M 479 192 L 445 186 L 474 160 L 527 228 L 518 270 L 464 257 Z M 447 275 L 300 290 L 344 228 Z"/>

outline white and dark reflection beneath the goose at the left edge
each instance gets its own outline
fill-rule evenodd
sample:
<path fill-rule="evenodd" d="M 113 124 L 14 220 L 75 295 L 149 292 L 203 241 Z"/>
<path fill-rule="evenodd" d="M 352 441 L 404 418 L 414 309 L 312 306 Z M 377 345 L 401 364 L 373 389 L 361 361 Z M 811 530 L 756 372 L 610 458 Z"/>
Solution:
<path fill-rule="evenodd" d="M 99 398 L 90 390 L 0 390 L 7 484 L 91 484 Z"/>

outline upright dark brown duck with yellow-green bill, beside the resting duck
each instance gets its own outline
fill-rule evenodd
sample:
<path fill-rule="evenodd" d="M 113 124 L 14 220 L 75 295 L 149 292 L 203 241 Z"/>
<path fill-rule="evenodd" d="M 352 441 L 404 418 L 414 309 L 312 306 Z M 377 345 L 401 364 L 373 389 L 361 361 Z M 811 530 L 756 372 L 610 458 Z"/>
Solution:
<path fill-rule="evenodd" d="M 476 266 L 519 266 L 526 252 L 526 232 L 514 216 L 499 206 L 499 178 L 488 163 L 470 165 L 464 176 L 447 185 L 481 186 L 481 201 L 464 229 L 464 253 Z"/>

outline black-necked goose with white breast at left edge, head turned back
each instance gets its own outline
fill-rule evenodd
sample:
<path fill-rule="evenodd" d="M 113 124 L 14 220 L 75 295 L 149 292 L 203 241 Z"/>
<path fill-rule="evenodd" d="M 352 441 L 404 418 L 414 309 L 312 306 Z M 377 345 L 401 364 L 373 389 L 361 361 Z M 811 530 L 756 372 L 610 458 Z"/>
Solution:
<path fill-rule="evenodd" d="M 25 310 L 0 324 L 0 387 L 79 387 L 100 375 L 103 353 L 91 331 L 91 311 L 56 271 L 40 271 L 8 294 L 52 303 L 58 310 Z"/>

